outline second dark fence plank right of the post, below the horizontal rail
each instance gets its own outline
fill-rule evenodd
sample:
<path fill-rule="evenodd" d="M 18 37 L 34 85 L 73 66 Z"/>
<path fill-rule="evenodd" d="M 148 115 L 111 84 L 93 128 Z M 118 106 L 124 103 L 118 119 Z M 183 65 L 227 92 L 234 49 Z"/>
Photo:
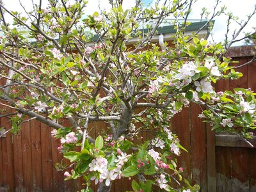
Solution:
<path fill-rule="evenodd" d="M 232 148 L 232 192 L 249 191 L 248 148 Z"/>

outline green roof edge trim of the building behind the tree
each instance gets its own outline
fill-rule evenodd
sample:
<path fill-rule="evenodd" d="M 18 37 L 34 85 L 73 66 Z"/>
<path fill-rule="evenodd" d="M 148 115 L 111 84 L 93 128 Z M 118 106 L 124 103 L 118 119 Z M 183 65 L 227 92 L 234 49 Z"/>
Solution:
<path fill-rule="evenodd" d="M 207 24 L 208 21 L 201 21 L 201 22 L 192 22 L 185 31 L 198 31 L 199 29 L 201 30 L 207 30 L 209 31 L 209 25 Z M 214 20 L 212 20 L 212 23 L 214 24 Z M 143 29 L 144 33 L 148 32 L 148 29 Z M 157 28 L 158 33 L 176 33 L 176 29 L 174 29 L 174 25 L 170 26 L 163 26 Z M 209 32 L 207 33 L 207 36 L 209 35 Z M 98 35 L 94 35 L 92 41 L 96 42 L 99 39 Z"/>

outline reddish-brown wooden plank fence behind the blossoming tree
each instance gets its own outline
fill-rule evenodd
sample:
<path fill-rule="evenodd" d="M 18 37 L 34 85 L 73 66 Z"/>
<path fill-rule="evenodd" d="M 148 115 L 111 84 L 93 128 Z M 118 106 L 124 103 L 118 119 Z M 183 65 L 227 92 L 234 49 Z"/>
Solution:
<path fill-rule="evenodd" d="M 249 52 L 248 52 L 249 51 Z M 234 48 L 230 56 L 240 63 L 252 59 L 252 47 Z M 256 90 L 256 62 L 239 68 L 244 76 L 236 81 L 221 81 L 216 90 L 235 87 Z M 256 191 L 256 148 L 250 148 L 236 136 L 214 135 L 209 125 L 199 118 L 202 109 L 196 104 L 184 108 L 173 118 L 172 129 L 188 149 L 179 157 L 184 177 L 199 184 L 201 191 Z M 64 122 L 65 124 L 65 122 Z M 10 129 L 7 118 L 0 118 L 1 127 Z M 91 124 L 96 136 L 103 123 Z M 0 191 L 77 191 L 81 180 L 63 181 L 63 172 L 54 164 L 61 163 L 56 148 L 59 141 L 51 138 L 51 127 L 37 121 L 22 125 L 17 135 L 0 138 Z M 255 140 L 252 140 L 252 143 Z M 256 145 L 254 145 L 256 147 Z M 67 163 L 65 161 L 63 164 Z M 131 191 L 130 180 L 118 180 L 112 191 Z"/>

